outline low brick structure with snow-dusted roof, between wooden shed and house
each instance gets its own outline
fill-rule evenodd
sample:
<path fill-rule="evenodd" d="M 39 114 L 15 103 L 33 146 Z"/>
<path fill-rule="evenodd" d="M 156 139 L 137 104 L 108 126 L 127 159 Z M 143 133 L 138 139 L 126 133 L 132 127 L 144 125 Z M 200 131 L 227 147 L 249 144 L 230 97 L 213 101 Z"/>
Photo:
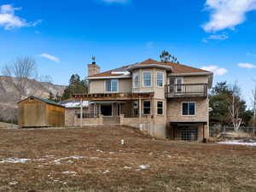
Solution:
<path fill-rule="evenodd" d="M 72 126 L 80 125 L 81 103 L 82 103 L 83 119 L 89 119 L 90 117 L 94 117 L 96 115 L 96 113 L 93 112 L 93 108 L 91 108 L 91 105 L 88 101 L 80 102 L 77 100 L 70 100 L 70 99 L 62 101 L 60 102 L 60 104 L 65 107 L 65 126 L 72 127 Z"/>

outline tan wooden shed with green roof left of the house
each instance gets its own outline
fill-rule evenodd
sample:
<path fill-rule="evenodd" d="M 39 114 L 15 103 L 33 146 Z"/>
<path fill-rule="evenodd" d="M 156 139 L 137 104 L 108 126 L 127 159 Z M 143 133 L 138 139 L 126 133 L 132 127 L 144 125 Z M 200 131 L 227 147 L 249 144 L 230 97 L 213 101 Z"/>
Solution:
<path fill-rule="evenodd" d="M 29 96 L 18 106 L 20 128 L 64 126 L 65 107 L 56 102 Z"/>

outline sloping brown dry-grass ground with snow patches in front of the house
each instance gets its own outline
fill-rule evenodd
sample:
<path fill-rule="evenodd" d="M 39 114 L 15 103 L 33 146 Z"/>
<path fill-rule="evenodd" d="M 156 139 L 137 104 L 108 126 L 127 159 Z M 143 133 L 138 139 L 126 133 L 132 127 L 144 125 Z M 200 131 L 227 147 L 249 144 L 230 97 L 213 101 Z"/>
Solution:
<path fill-rule="evenodd" d="M 0 191 L 255 192 L 256 148 L 155 140 L 121 126 L 0 130 Z"/>

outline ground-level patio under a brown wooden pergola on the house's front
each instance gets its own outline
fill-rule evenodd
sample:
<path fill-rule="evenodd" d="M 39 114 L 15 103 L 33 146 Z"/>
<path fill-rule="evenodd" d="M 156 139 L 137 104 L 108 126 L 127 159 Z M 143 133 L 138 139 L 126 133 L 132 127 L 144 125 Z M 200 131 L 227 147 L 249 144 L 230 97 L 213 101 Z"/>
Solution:
<path fill-rule="evenodd" d="M 144 100 L 151 101 L 154 93 L 104 93 L 77 94 L 73 98 L 79 101 L 90 101 L 92 114 L 84 117 L 102 118 L 103 125 L 123 125 L 126 121 L 143 122 Z M 148 119 L 148 117 L 147 117 Z M 81 119 L 83 120 L 83 119 Z M 83 122 L 85 122 L 83 120 Z M 84 125 L 84 123 L 83 123 Z"/>

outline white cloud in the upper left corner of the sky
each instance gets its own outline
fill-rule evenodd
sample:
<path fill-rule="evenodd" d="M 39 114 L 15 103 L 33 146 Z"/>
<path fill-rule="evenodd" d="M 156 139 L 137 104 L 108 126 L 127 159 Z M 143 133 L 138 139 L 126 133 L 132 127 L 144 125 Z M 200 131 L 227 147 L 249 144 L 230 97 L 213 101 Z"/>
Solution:
<path fill-rule="evenodd" d="M 42 20 L 28 23 L 25 19 L 15 15 L 16 10 L 21 8 L 14 8 L 11 4 L 4 4 L 0 6 L 0 26 L 5 30 L 20 28 L 24 26 L 37 26 Z"/>

